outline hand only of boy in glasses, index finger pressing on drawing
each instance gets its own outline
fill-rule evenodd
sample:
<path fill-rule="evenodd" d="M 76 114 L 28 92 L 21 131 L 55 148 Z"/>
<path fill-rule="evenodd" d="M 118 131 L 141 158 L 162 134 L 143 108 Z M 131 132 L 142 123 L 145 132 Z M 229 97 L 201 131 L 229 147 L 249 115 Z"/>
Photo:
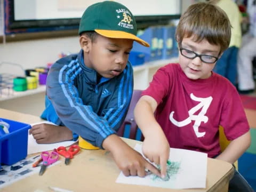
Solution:
<path fill-rule="evenodd" d="M 147 134 L 142 145 L 142 153 L 150 162 L 160 165 L 161 177 L 165 178 L 166 163 L 170 155 L 170 146 L 162 131 Z"/>

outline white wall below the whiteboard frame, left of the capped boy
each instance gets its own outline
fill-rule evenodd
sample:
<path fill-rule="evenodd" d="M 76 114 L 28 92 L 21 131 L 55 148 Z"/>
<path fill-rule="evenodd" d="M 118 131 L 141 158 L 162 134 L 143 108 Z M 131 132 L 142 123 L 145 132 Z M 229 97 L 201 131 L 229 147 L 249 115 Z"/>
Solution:
<path fill-rule="evenodd" d="M 23 75 L 20 67 L 2 62 L 18 63 L 23 69 L 44 67 L 58 60 L 61 52 L 77 53 L 80 49 L 78 36 L 1 43 L 0 73 Z"/>

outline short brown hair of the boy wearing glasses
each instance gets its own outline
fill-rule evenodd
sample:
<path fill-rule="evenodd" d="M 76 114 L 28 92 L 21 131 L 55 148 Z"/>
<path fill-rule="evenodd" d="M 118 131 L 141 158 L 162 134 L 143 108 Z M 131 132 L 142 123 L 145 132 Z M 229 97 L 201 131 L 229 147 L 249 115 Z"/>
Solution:
<path fill-rule="evenodd" d="M 181 15 L 175 38 L 178 43 L 185 37 L 194 35 L 194 41 L 206 39 L 210 44 L 220 45 L 225 51 L 230 43 L 231 25 L 227 14 L 211 3 L 190 5 Z"/>

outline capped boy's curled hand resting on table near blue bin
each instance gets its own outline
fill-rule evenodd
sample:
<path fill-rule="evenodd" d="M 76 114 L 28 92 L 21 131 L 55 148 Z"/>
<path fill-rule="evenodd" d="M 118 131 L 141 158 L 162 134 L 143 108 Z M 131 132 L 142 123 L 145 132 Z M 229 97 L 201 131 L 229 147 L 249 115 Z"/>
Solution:
<path fill-rule="evenodd" d="M 46 123 L 34 125 L 29 134 L 32 134 L 37 143 L 54 143 L 73 139 L 73 133 L 65 126 L 55 126 Z"/>

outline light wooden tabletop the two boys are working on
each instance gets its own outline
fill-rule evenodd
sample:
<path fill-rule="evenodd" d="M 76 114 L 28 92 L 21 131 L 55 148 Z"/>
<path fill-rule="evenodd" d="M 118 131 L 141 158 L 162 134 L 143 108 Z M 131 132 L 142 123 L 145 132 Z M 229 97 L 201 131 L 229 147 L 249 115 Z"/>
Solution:
<path fill-rule="evenodd" d="M 0 117 L 24 123 L 42 121 L 39 117 L 0 109 Z M 130 146 L 136 143 L 131 139 L 124 139 Z M 122 192 L 151 192 L 151 191 L 228 191 L 228 183 L 234 174 L 230 163 L 217 159 L 207 159 L 207 179 L 205 189 L 165 189 L 138 185 L 116 183 L 120 170 L 116 166 L 111 154 L 106 150 L 85 150 L 71 159 L 70 164 L 61 163 L 47 169 L 43 176 L 30 175 L 27 178 L 12 183 L 0 191 L 52 191 L 49 187 L 58 187 L 71 191 L 122 191 Z M 191 174 L 191 177 L 193 175 Z"/>

